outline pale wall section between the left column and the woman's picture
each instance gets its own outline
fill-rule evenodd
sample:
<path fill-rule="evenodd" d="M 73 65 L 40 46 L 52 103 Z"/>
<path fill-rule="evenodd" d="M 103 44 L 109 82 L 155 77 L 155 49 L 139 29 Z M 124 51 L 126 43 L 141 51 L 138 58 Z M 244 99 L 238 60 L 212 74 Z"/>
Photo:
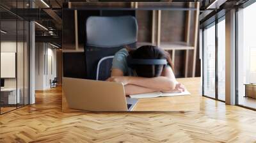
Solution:
<path fill-rule="evenodd" d="M 48 43 L 36 43 L 36 90 L 45 90 L 51 87 L 50 80 L 56 77 L 56 67 L 56 49 L 53 49 Z"/>

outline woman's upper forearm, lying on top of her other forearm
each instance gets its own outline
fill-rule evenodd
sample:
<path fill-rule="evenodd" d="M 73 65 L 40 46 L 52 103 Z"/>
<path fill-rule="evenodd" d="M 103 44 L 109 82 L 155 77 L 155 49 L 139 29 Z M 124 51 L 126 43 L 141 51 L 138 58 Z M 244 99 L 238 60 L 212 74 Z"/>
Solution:
<path fill-rule="evenodd" d="M 176 81 L 168 77 L 129 77 L 128 84 L 157 89 L 158 91 L 172 91 L 175 89 Z"/>

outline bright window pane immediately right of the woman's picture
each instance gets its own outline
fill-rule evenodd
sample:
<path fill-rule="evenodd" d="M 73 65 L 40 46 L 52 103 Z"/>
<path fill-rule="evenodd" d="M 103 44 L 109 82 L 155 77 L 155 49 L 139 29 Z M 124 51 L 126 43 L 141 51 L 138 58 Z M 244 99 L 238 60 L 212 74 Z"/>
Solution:
<path fill-rule="evenodd" d="M 204 29 L 204 95 L 215 98 L 215 25 Z"/>

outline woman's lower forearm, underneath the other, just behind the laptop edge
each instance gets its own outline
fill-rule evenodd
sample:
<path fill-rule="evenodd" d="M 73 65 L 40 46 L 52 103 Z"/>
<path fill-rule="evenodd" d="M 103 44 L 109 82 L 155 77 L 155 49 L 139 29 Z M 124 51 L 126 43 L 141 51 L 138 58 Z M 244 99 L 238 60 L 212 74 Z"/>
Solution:
<path fill-rule="evenodd" d="M 147 87 L 142 87 L 142 86 L 136 86 L 132 84 L 127 84 L 124 86 L 125 89 L 125 95 L 131 95 L 131 94 L 141 94 L 141 93 L 152 93 L 159 91 L 157 89 L 150 89 Z"/>

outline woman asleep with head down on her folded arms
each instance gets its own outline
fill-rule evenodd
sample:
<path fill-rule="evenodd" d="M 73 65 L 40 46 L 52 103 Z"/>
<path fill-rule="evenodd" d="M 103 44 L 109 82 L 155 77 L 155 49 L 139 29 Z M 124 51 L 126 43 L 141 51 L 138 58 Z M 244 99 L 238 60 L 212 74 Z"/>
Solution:
<path fill-rule="evenodd" d="M 129 64 L 132 59 L 166 59 L 168 64 Z M 156 46 L 145 45 L 136 50 L 128 47 L 116 52 L 113 59 L 111 77 L 107 81 L 122 82 L 125 94 L 182 92 L 184 86 L 177 82 L 173 74 L 173 64 L 168 52 Z"/>

